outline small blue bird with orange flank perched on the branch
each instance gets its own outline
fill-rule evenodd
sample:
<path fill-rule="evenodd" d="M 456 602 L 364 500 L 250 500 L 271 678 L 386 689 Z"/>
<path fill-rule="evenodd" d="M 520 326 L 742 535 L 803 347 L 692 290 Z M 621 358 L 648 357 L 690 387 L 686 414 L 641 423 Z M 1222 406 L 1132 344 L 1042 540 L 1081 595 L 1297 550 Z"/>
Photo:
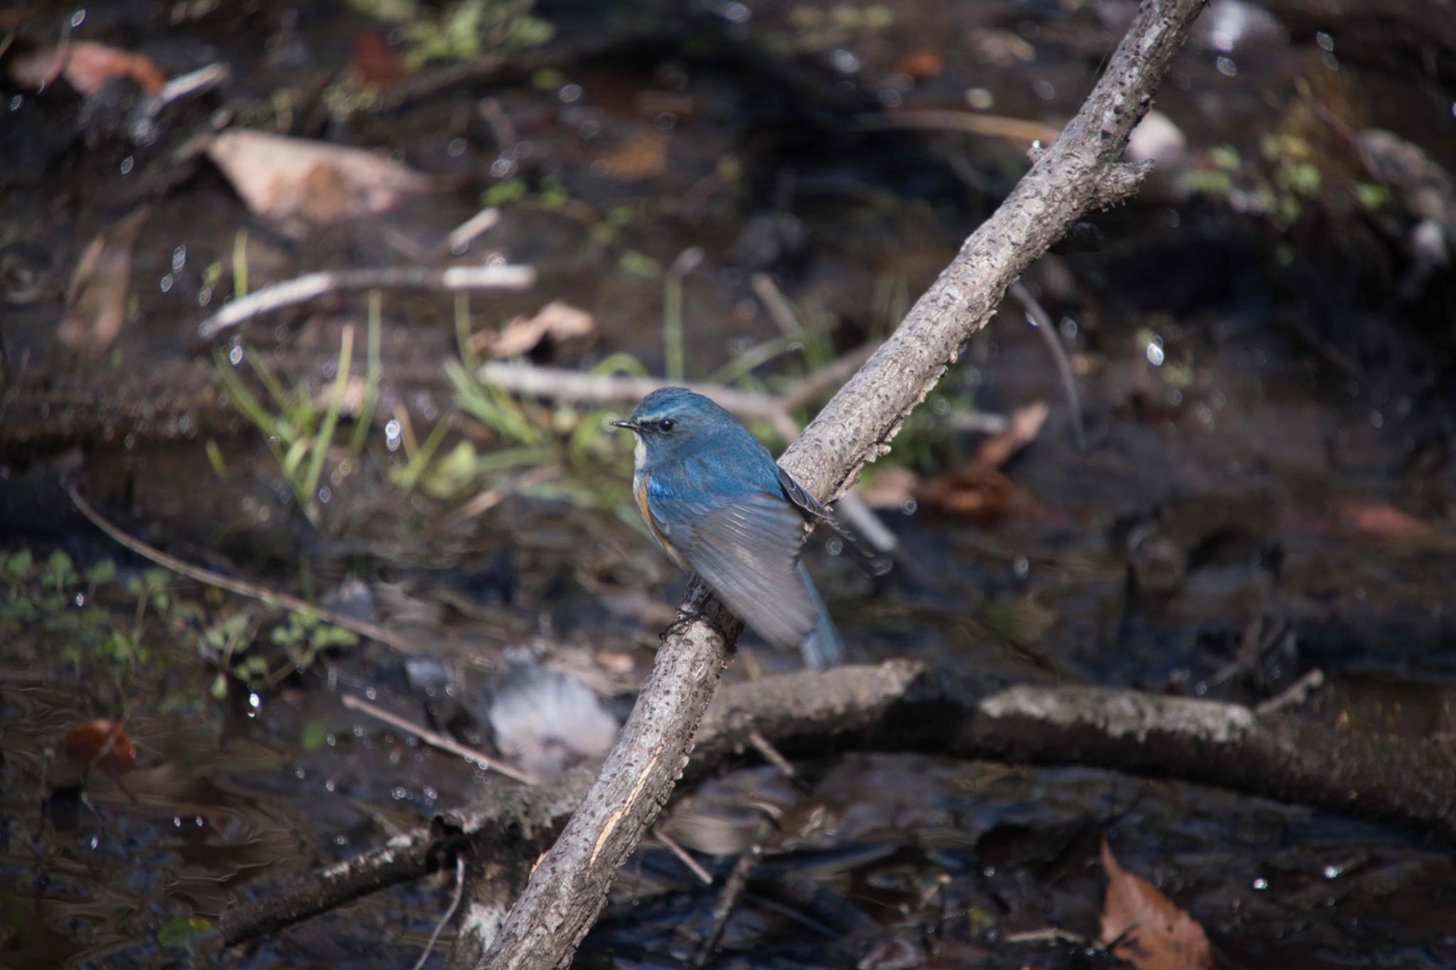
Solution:
<path fill-rule="evenodd" d="M 815 670 L 840 662 L 839 633 L 799 563 L 805 522 L 828 510 L 702 394 L 664 387 L 614 423 L 636 436 L 632 496 L 668 558 L 770 644 L 799 647 Z"/>

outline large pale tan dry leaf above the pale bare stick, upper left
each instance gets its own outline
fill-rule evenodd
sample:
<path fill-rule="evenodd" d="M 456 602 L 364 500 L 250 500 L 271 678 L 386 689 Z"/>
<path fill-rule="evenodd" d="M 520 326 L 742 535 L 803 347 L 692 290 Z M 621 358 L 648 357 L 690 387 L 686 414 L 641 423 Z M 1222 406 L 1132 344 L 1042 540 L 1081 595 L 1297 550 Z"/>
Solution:
<path fill-rule="evenodd" d="M 249 209 L 280 223 L 383 212 L 446 185 L 374 151 L 262 131 L 224 131 L 207 154 Z"/>

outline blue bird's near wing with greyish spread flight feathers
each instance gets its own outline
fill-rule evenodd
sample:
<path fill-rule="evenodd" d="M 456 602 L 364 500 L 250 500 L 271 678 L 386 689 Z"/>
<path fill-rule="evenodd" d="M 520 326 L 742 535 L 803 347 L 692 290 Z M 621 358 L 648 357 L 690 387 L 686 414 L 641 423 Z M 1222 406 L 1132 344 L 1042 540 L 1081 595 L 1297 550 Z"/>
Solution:
<path fill-rule="evenodd" d="M 799 646 L 818 617 L 798 573 L 798 509 L 756 492 L 693 512 L 686 516 L 692 537 L 674 538 L 689 567 L 760 637 L 776 647 Z"/>

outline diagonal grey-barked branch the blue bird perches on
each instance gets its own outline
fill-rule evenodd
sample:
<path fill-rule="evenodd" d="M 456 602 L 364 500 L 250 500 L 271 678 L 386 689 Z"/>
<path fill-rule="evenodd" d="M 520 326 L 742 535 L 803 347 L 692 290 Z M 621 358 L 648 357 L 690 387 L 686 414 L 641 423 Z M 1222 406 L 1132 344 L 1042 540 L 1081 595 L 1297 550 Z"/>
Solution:
<path fill-rule="evenodd" d="M 1088 209 L 1130 195 L 1120 163 L 1206 0 L 1143 0 L 1082 111 L 1038 153 L 1010 196 L 961 247 L 895 333 L 840 388 L 780 464 L 820 499 L 840 494 L 888 451 L 906 416 L 986 326 L 1006 288 Z M 489 951 L 491 969 L 569 963 L 687 763 L 741 624 L 693 582 L 622 737 L 556 845 L 531 874 Z"/>

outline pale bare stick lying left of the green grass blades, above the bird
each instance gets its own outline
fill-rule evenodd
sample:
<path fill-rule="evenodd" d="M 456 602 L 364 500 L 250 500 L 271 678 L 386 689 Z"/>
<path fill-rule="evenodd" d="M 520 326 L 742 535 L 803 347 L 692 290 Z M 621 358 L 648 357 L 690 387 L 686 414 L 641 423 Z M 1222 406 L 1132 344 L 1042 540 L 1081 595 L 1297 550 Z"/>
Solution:
<path fill-rule="evenodd" d="M 256 289 L 224 305 L 197 324 L 199 340 L 242 326 L 284 307 L 317 300 L 331 292 L 351 289 L 530 289 L 536 285 L 534 266 L 386 266 L 381 269 L 341 269 L 304 273 L 272 286 Z"/>

